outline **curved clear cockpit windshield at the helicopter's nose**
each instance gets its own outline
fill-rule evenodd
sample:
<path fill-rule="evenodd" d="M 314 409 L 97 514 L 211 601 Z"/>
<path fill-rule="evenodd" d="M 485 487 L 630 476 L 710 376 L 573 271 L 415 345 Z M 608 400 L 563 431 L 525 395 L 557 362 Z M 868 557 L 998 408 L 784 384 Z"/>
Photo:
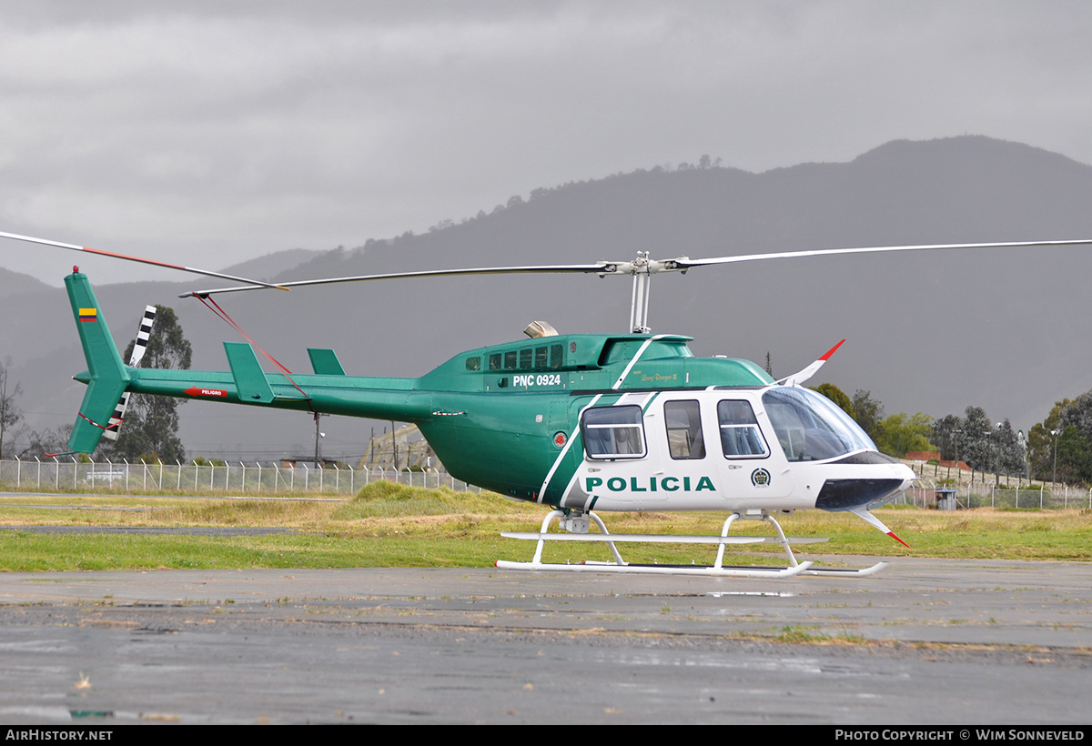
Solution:
<path fill-rule="evenodd" d="M 845 412 L 810 389 L 773 388 L 762 394 L 762 403 L 790 461 L 826 461 L 877 450 Z"/>

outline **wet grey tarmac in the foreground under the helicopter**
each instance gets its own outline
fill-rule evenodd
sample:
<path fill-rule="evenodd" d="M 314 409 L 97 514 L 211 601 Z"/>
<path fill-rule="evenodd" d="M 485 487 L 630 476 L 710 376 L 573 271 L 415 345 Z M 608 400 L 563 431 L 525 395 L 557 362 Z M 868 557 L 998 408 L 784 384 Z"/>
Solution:
<path fill-rule="evenodd" d="M 10 572 L 0 656 L 5 724 L 1078 725 L 1092 565 Z"/>

